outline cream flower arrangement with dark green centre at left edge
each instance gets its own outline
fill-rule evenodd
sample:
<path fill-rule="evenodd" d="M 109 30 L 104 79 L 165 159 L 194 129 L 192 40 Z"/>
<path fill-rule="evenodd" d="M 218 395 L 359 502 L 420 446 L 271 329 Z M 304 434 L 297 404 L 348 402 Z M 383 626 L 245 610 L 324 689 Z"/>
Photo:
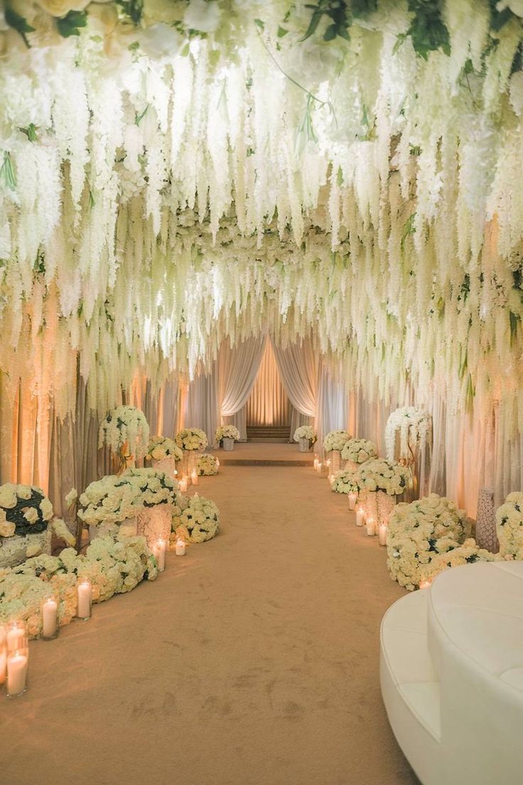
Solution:
<path fill-rule="evenodd" d="M 0 567 L 11 567 L 38 553 L 50 553 L 52 531 L 74 545 L 64 520 L 53 518 L 53 505 L 41 488 L 0 486 Z"/>

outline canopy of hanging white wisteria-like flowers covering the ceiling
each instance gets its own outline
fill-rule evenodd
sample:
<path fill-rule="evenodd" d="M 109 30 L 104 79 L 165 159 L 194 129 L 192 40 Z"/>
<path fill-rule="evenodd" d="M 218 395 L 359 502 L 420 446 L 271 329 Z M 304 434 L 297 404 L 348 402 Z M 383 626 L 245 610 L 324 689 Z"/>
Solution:
<path fill-rule="evenodd" d="M 9 0 L 0 368 L 105 411 L 220 341 L 523 432 L 523 0 Z M 79 358 L 79 360 L 78 360 Z M 520 392 L 521 390 L 521 392 Z M 519 427 L 518 427 L 519 424 Z"/>

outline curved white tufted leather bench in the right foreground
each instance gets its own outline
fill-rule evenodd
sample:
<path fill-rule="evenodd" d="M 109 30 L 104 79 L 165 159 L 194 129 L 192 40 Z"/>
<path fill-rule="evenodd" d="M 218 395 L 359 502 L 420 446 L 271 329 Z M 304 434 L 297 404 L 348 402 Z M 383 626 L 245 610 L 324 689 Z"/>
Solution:
<path fill-rule="evenodd" d="M 423 785 L 523 783 L 523 562 L 447 570 L 381 626 L 383 702 Z"/>

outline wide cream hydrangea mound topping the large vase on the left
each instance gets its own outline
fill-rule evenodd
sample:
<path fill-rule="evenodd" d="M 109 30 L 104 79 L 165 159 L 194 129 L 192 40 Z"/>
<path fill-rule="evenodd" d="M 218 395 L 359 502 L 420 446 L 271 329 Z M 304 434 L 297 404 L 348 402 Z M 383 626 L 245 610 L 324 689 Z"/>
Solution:
<path fill-rule="evenodd" d="M 88 526 L 120 524 L 145 507 L 173 504 L 178 484 L 155 469 L 127 469 L 85 488 L 79 498 L 78 517 Z"/>

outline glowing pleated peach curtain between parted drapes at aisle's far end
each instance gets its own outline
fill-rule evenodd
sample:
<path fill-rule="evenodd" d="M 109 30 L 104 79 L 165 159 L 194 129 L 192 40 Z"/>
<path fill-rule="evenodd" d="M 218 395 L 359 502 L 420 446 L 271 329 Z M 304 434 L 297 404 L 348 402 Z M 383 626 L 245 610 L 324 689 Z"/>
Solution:
<path fill-rule="evenodd" d="M 246 406 L 247 425 L 290 425 L 289 398 L 281 383 L 271 341 L 267 341 L 260 371 Z"/>

